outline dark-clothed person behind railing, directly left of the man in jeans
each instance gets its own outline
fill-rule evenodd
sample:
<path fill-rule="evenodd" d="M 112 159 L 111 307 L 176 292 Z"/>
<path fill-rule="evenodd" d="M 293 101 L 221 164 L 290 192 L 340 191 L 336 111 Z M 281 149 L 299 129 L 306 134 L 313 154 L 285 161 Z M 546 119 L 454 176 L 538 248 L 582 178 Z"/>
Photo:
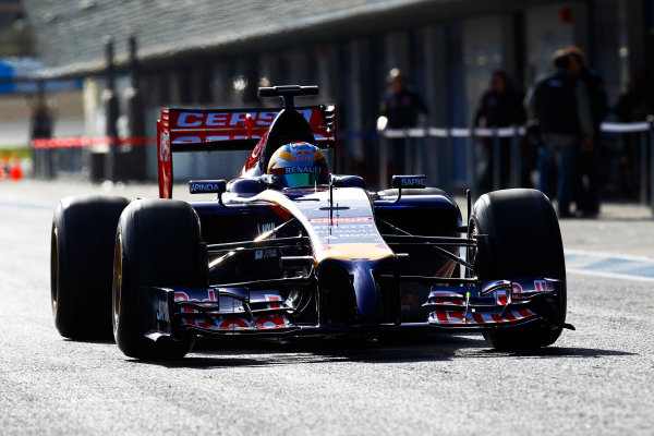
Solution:
<path fill-rule="evenodd" d="M 506 128 L 524 123 L 524 109 L 520 96 L 511 86 L 507 72 L 498 70 L 493 73 L 491 88 L 482 95 L 474 116 L 475 128 Z M 510 174 L 511 140 L 499 138 L 499 162 L 493 159 L 493 137 L 485 137 L 481 143 L 483 161 L 477 171 L 477 190 L 485 193 L 493 190 L 493 173 L 499 165 L 501 187 L 508 187 Z"/>

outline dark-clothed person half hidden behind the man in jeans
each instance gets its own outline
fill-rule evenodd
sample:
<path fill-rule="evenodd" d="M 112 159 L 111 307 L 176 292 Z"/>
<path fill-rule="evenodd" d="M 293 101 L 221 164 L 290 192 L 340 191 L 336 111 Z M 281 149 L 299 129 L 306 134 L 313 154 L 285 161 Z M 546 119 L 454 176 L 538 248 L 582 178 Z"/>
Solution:
<path fill-rule="evenodd" d="M 604 78 L 585 64 L 585 55 L 579 47 L 566 48 L 570 56 L 570 72 L 585 86 L 593 120 L 591 146 L 582 147 L 577 166 L 574 202 L 585 217 L 596 217 L 600 214 L 600 191 L 602 180 L 602 143 L 600 128 L 608 113 L 608 98 L 604 89 Z"/>

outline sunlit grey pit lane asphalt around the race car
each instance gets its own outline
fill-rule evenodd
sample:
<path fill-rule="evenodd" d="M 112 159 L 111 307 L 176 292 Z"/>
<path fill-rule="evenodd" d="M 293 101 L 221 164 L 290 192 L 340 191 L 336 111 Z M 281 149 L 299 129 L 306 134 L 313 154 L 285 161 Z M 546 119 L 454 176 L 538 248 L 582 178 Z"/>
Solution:
<path fill-rule="evenodd" d="M 577 331 L 538 352 L 433 335 L 202 341 L 183 360 L 143 363 L 111 342 L 62 339 L 49 306 L 52 211 L 61 196 L 101 192 L 0 183 L 1 435 L 654 432 L 654 281 L 596 275 L 579 257 L 568 276 Z M 114 192 L 156 196 L 156 186 Z M 654 257 L 654 220 L 640 206 L 607 205 L 561 229 L 569 264 L 570 253 Z"/>

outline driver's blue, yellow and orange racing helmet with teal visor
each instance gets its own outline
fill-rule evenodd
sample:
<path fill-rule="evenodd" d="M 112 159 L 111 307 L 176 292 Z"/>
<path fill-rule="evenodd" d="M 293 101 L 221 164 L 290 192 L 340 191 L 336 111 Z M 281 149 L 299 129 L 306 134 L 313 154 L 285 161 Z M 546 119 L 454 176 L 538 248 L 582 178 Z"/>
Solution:
<path fill-rule="evenodd" d="M 271 183 L 283 187 L 329 183 L 329 168 L 323 152 L 305 142 L 279 147 L 270 157 L 267 172 Z"/>

